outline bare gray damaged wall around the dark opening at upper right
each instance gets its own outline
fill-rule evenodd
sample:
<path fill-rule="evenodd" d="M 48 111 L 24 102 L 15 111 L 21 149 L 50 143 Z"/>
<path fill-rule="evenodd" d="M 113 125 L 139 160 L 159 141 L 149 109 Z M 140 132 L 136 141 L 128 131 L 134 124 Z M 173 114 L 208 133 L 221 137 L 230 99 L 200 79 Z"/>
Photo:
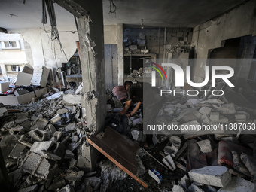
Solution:
<path fill-rule="evenodd" d="M 223 41 L 245 35 L 255 35 L 255 4 L 251 0 L 233 10 L 221 14 L 199 26 L 194 27 L 192 46 L 197 59 L 207 59 L 209 50 L 223 47 Z M 202 82 L 205 64 L 195 63 L 194 81 Z"/>

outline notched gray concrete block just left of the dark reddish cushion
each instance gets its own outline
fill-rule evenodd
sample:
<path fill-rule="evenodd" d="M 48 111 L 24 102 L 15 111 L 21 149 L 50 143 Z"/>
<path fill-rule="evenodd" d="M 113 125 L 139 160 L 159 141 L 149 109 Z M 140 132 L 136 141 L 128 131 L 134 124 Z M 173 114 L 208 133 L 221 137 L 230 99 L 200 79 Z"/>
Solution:
<path fill-rule="evenodd" d="M 173 158 L 181 147 L 181 139 L 178 136 L 171 136 L 167 145 L 163 148 L 165 154 L 170 154 Z"/>

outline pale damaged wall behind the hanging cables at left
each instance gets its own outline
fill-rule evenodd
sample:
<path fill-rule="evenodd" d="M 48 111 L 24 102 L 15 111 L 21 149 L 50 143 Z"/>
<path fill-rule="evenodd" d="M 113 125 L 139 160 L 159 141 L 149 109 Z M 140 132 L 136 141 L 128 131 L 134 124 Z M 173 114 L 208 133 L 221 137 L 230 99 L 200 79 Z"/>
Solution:
<path fill-rule="evenodd" d="M 69 59 L 76 50 L 75 41 L 78 41 L 78 34 L 74 31 L 75 26 L 58 28 L 62 48 Z M 47 29 L 49 30 L 49 29 Z M 75 33 L 73 33 L 73 32 Z M 32 50 L 32 66 L 60 67 L 61 63 L 67 62 L 66 56 L 60 50 L 59 43 L 50 40 L 50 32 L 44 32 L 41 28 L 15 29 L 24 41 L 30 44 Z"/>

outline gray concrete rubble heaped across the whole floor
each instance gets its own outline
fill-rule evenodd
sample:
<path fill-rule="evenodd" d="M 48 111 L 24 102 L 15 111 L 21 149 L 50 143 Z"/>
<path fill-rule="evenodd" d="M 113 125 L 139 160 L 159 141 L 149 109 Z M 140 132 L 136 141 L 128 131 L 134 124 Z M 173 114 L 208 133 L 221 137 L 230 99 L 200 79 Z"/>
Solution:
<path fill-rule="evenodd" d="M 93 138 L 96 133 L 93 126 L 87 126 L 82 89 L 80 85 L 76 91 L 47 93 L 37 102 L 5 107 L 6 111 L 20 110 L 14 115 L 4 113 L 8 116 L 0 123 L 4 164 L 18 191 L 253 191 L 256 165 L 252 155 L 256 137 L 245 135 L 245 130 L 237 136 L 238 130 L 227 133 L 221 127 L 215 130 L 197 128 L 203 124 L 222 124 L 225 127 L 228 123 L 250 123 L 256 119 L 256 111 L 224 99 L 170 97 L 157 120 L 178 128 L 196 129 L 178 130 L 177 134 L 166 130 L 162 134 L 154 134 L 151 144 L 151 138 L 143 133 L 142 116 L 137 111 L 129 118 L 126 132 L 121 134 L 139 146 L 134 157 L 136 163 L 117 168 L 97 153 L 96 145 L 90 145 L 90 136 Z M 123 102 L 117 100 L 111 90 L 106 92 L 106 112 L 111 115 L 122 111 Z M 97 137 L 104 134 L 103 130 Z M 115 138 L 110 140 L 116 141 Z M 221 142 L 241 145 L 248 151 L 229 148 L 221 151 Z M 130 153 L 130 148 L 120 148 L 118 143 L 114 150 L 116 154 L 109 154 L 109 159 L 114 159 L 118 150 Z M 227 157 L 223 161 L 230 163 L 228 169 L 221 163 L 218 165 L 218 154 L 221 153 Z M 88 154 L 104 160 L 98 162 L 98 158 L 93 159 L 96 167 L 91 169 L 92 160 L 87 158 Z M 137 183 L 127 175 L 123 170 L 130 169 L 126 167 L 134 169 L 133 178 L 142 179 L 149 188 L 145 189 L 141 181 L 136 179 Z"/>

